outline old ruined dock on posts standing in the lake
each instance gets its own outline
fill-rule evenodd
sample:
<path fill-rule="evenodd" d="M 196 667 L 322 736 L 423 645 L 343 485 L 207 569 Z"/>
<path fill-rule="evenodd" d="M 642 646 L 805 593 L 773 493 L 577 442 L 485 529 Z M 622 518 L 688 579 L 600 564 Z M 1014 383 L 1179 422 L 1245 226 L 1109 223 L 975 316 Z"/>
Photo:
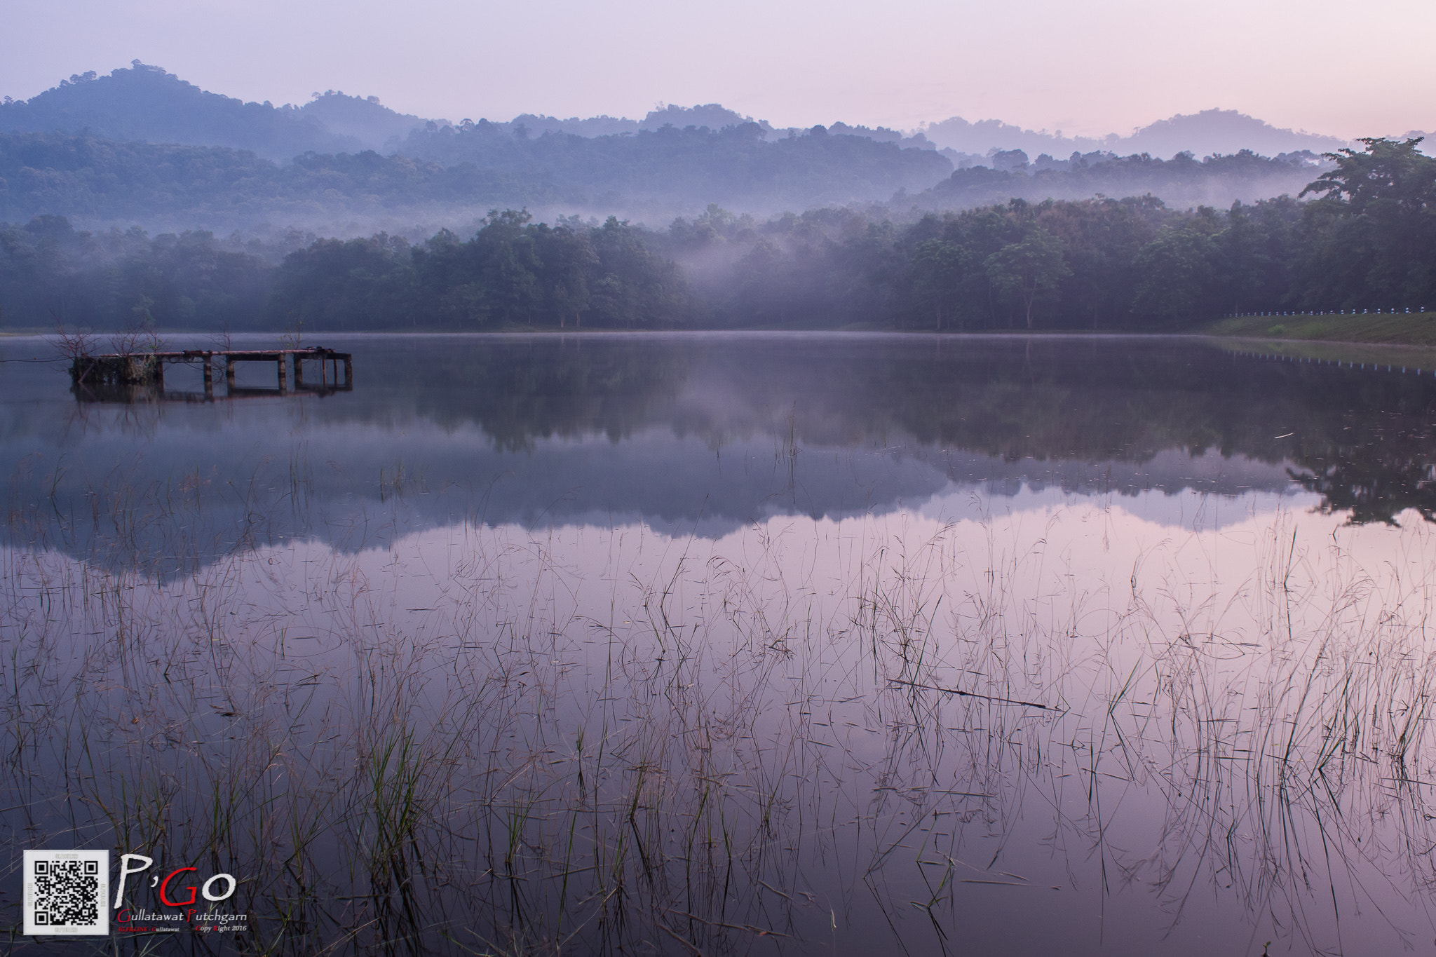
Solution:
<path fill-rule="evenodd" d="M 234 369 L 241 362 L 274 363 L 277 387 L 240 387 Z M 304 382 L 304 363 L 319 363 L 319 382 Z M 165 393 L 165 366 L 200 363 L 204 374 L 204 395 L 191 392 Z M 224 364 L 224 396 L 240 399 L 273 395 L 330 395 L 353 389 L 353 354 L 312 346 L 309 349 L 184 349 L 178 352 L 113 353 L 108 356 L 76 356 L 70 362 L 70 382 L 82 399 L 134 402 L 142 397 L 213 400 L 215 364 Z M 340 377 L 340 364 L 343 376 Z M 293 386 L 290 386 L 293 366 Z"/>

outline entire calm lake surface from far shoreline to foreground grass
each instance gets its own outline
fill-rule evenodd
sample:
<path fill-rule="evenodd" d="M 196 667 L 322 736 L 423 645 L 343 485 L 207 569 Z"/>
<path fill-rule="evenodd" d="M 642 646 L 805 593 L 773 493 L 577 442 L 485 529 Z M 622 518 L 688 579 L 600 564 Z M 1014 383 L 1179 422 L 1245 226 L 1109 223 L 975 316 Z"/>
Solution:
<path fill-rule="evenodd" d="M 205 400 L 0 340 L 6 920 L 23 849 L 155 861 L 14 953 L 1436 948 L 1429 369 L 322 344 Z M 243 930 L 135 917 L 185 867 Z"/>

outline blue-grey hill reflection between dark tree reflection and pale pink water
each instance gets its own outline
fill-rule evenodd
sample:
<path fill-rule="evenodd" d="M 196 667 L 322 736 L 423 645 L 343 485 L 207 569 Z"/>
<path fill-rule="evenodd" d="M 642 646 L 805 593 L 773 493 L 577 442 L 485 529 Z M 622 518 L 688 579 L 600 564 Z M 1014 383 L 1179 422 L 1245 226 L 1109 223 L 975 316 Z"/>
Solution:
<path fill-rule="evenodd" d="M 538 439 L 523 452 L 495 451 L 475 429 L 402 429 L 345 423 L 287 435 L 254 429 L 188 429 L 167 422 L 144 442 L 102 430 L 63 443 L 19 440 L 3 453 L 11 475 L 29 468 L 32 501 L 52 494 L 62 511 L 89 511 L 96 489 L 168 494 L 194 476 L 208 498 L 200 518 L 243 524 L 266 508 L 271 537 L 320 535 L 353 542 L 355 527 L 386 537 L 399 528 L 481 518 L 490 524 L 596 524 L 642 519 L 673 534 L 724 535 L 771 515 L 854 518 L 893 509 L 1037 508 L 1099 495 L 1155 521 L 1189 524 L 1193 509 L 1239 515 L 1281 495 L 1281 466 L 1215 452 L 1160 452 L 1123 462 L 1004 462 L 929 448 L 811 448 L 796 453 L 771 439 L 734 440 L 719 451 L 663 428 L 619 442 Z M 59 479 L 55 481 L 56 473 Z M 300 481 L 290 495 L 290 481 Z M 22 492 L 23 494 L 23 492 Z M 300 499 L 302 511 L 270 508 Z M 78 504 L 78 505 L 76 505 Z M 290 505 L 293 502 L 290 501 Z M 1211 518 L 1208 521 L 1212 521 Z M 1222 519 L 1225 521 L 1225 519 Z M 392 531 L 385 531 L 393 524 Z"/>

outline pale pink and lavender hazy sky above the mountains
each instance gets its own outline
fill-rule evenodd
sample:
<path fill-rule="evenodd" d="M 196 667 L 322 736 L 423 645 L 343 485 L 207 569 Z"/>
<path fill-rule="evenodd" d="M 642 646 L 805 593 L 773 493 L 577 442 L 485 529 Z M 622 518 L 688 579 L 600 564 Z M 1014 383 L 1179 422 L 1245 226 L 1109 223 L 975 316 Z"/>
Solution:
<path fill-rule="evenodd" d="M 205 89 L 404 112 L 780 126 L 997 118 L 1130 132 L 1221 106 L 1340 136 L 1436 128 L 1432 0 L 0 0 L 0 95 L 132 59 Z"/>

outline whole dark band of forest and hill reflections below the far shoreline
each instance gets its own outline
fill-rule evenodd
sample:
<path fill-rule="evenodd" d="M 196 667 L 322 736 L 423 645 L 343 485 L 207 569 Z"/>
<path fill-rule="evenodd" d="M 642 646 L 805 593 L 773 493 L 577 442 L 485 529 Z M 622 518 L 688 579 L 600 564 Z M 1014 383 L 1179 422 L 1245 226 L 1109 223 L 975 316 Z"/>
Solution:
<path fill-rule="evenodd" d="M 129 456 L 129 489 L 181 473 L 270 488 L 284 476 L 261 485 L 257 469 L 287 462 L 290 479 L 303 471 L 310 504 L 383 498 L 385 484 L 402 491 L 404 469 L 432 489 L 481 489 L 490 522 L 615 511 L 731 524 L 784 508 L 784 494 L 788 511 L 841 515 L 931 495 L 932 481 L 1239 495 L 1295 479 L 1356 522 L 1393 521 L 1406 508 L 1436 514 L 1430 376 L 1232 356 L 1200 340 L 599 334 L 325 344 L 355 352 L 353 393 L 98 409 L 75 403 L 57 369 L 11 364 L 0 406 L 11 511 L 50 499 L 49 511 L 95 511 L 96 495 L 123 492 L 101 486 L 119 481 L 106 469 Z M 860 461 L 837 476 L 819 451 Z M 763 455 L 773 466 L 765 478 L 750 468 L 738 486 L 724 471 L 725 456 Z M 918 481 L 919 471 L 931 478 Z M 457 518 L 442 498 L 415 499 L 429 509 L 425 524 Z M 246 514 L 253 505 L 243 504 Z"/>

